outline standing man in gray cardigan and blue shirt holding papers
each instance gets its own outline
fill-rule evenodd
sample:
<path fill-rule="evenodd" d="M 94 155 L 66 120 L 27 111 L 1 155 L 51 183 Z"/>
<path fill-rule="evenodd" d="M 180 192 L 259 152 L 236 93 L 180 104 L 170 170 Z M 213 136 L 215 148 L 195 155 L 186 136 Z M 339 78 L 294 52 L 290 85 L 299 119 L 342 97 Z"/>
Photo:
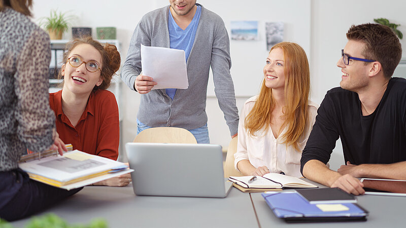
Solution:
<path fill-rule="evenodd" d="M 150 127 L 189 130 L 198 143 L 210 143 L 206 96 L 212 67 L 215 93 L 231 137 L 238 131 L 239 115 L 230 75 L 228 34 L 223 20 L 196 0 L 170 0 L 166 6 L 143 16 L 132 35 L 121 79 L 142 94 L 137 134 Z M 141 44 L 185 50 L 187 89 L 151 90 L 156 82 L 142 75 Z"/>

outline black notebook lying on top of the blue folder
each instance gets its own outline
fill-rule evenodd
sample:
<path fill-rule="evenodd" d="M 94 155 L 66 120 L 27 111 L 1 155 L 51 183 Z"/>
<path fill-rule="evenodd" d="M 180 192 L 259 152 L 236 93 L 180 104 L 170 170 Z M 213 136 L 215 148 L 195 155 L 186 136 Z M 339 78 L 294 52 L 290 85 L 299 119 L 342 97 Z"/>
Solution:
<path fill-rule="evenodd" d="M 310 204 L 356 203 L 357 199 L 338 187 L 317 189 L 296 189 L 296 192 Z"/>

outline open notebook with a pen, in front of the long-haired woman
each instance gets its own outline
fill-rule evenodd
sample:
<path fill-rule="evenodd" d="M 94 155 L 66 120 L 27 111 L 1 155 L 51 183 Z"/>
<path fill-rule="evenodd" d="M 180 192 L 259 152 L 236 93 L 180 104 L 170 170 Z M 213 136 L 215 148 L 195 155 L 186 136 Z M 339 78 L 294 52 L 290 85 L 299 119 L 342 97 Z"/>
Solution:
<path fill-rule="evenodd" d="M 230 176 L 228 180 L 243 192 L 264 192 L 282 188 L 315 188 L 316 185 L 293 176 L 267 173 L 263 176 Z"/>

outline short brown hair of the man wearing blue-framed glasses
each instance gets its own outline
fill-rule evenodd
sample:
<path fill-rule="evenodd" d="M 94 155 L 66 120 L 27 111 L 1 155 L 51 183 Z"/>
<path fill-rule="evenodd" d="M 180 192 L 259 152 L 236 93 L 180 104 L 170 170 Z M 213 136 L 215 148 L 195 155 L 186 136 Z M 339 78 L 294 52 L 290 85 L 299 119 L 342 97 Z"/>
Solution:
<path fill-rule="evenodd" d="M 402 57 L 402 47 L 391 28 L 371 23 L 352 25 L 347 32 L 347 39 L 363 42 L 365 48 L 362 55 L 366 59 L 380 62 L 385 77 L 392 77 Z"/>

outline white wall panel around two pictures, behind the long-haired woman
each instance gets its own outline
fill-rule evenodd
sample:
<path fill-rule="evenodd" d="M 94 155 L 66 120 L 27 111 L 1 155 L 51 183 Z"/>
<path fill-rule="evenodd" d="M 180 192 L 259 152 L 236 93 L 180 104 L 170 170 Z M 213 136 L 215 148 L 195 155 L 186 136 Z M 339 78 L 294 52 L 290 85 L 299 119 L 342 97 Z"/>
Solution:
<path fill-rule="evenodd" d="M 251 97 L 258 93 L 263 79 L 262 68 L 269 50 L 266 47 L 265 22 L 283 22 L 284 41 L 299 44 L 304 51 L 310 53 L 310 0 L 289 0 L 280 4 L 278 10 L 269 13 L 278 1 L 257 1 L 261 7 L 245 7 L 245 2 L 234 1 L 224 7 L 218 6 L 219 1 L 201 1 L 207 9 L 221 16 L 230 34 L 231 21 L 258 21 L 258 41 L 230 41 L 231 75 L 234 82 L 235 95 Z M 295 6 L 295 7 L 291 7 Z M 210 77 L 208 96 L 215 96 L 212 77 Z"/>

